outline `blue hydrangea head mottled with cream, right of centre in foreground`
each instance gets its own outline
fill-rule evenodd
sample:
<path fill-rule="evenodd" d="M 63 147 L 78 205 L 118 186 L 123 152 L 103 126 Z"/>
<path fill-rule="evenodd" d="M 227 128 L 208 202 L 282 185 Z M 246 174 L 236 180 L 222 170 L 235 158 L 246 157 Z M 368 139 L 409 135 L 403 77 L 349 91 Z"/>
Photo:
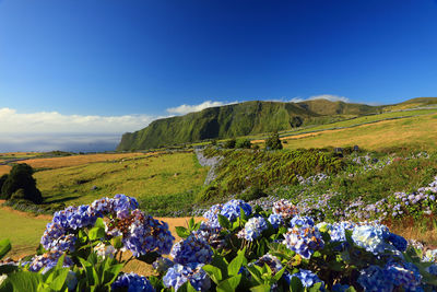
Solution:
<path fill-rule="evenodd" d="M 288 229 L 284 237 L 283 244 L 307 259 L 311 257 L 315 250 L 324 246 L 320 232 L 311 226 Z"/>

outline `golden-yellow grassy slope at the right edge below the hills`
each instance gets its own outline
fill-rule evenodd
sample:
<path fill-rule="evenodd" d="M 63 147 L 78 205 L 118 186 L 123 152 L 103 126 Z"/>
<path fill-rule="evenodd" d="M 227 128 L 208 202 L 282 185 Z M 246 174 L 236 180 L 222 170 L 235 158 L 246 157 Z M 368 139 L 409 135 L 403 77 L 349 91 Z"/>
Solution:
<path fill-rule="evenodd" d="M 284 147 L 298 149 L 354 144 L 368 150 L 401 147 L 435 150 L 437 148 L 437 114 L 296 136 L 287 138 Z"/>

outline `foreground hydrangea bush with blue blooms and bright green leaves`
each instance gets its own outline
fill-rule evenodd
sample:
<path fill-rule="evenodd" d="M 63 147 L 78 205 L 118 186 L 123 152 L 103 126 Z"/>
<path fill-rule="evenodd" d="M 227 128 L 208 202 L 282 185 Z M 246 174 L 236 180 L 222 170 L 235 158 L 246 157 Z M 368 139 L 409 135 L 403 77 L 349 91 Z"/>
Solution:
<path fill-rule="evenodd" d="M 2 262 L 0 291 L 437 291 L 437 250 L 376 221 L 320 222 L 287 200 L 270 210 L 231 200 L 203 218 L 178 226 L 174 244 L 134 198 L 69 207 L 37 255 Z M 157 276 L 122 272 L 132 258 Z"/>

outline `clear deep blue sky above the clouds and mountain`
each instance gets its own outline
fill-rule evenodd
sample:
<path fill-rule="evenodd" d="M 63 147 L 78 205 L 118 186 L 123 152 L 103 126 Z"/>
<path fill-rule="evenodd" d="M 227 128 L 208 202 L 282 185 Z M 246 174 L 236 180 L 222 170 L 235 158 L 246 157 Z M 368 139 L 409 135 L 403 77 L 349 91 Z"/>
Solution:
<path fill-rule="evenodd" d="M 435 0 L 0 0 L 0 107 L 437 96 Z"/>

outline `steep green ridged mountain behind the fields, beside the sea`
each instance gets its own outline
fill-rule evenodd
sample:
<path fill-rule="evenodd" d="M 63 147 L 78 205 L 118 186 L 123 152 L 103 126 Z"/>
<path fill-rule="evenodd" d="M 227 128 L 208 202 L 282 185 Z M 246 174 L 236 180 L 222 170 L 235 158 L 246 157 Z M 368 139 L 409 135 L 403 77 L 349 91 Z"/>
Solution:
<path fill-rule="evenodd" d="M 245 102 L 155 120 L 142 130 L 125 133 L 117 150 L 146 150 L 204 139 L 291 130 L 381 110 L 381 106 L 327 100 L 300 103 Z"/>

